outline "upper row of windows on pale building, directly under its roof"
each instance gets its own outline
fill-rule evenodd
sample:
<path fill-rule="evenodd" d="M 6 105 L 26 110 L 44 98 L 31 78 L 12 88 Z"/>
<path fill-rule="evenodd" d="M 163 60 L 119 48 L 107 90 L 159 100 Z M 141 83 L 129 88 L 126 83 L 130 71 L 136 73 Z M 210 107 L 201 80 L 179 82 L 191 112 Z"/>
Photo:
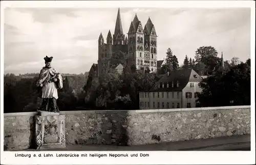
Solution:
<path fill-rule="evenodd" d="M 170 93 L 172 93 L 172 98 L 175 98 L 175 93 L 176 93 L 176 98 L 180 98 L 180 92 L 157 92 L 157 98 L 164 98 L 164 93 L 166 94 L 166 98 L 169 98 L 171 95 Z M 160 97 L 161 96 L 161 97 Z M 150 93 L 146 93 L 146 92 L 141 92 L 140 93 L 140 98 L 150 98 Z M 186 98 L 192 98 L 192 92 L 186 92 L 185 93 L 185 97 Z M 194 97 L 197 98 L 198 97 L 198 92 L 194 93 Z M 155 98 L 155 92 L 153 92 L 153 98 Z"/>

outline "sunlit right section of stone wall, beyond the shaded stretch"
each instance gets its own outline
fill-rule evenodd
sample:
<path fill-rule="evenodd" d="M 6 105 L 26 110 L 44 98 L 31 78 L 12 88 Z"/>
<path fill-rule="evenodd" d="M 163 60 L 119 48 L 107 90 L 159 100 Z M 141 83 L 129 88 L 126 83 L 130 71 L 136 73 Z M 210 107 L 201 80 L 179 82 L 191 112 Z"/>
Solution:
<path fill-rule="evenodd" d="M 218 108 L 218 109 L 217 109 Z M 151 144 L 250 134 L 250 107 L 141 110 L 127 117 L 129 144 Z M 164 111 L 165 110 L 165 111 Z M 170 110 L 168 112 L 168 110 Z"/>

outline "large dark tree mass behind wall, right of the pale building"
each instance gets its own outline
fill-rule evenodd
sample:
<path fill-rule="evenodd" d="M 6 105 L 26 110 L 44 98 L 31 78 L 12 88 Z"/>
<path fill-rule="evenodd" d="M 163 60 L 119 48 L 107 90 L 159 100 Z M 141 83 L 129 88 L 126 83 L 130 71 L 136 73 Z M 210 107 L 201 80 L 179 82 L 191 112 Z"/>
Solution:
<path fill-rule="evenodd" d="M 229 71 L 217 72 L 200 82 L 201 106 L 250 105 L 250 66 L 241 63 Z"/>

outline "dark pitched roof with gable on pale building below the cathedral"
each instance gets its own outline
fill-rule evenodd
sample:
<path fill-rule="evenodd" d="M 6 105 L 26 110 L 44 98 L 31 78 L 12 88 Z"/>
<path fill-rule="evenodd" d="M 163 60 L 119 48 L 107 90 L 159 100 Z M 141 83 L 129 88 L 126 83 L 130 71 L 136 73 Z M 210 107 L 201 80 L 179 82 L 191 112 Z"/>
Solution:
<path fill-rule="evenodd" d="M 182 91 L 188 82 L 200 82 L 202 77 L 193 69 L 180 69 L 176 71 L 169 72 L 169 76 L 167 74 L 163 75 L 162 78 L 156 83 L 155 87 L 153 87 L 148 92 L 176 92 Z M 179 83 L 179 87 L 177 87 L 177 82 Z M 168 88 L 167 88 L 168 83 Z M 162 85 L 164 84 L 164 88 Z M 174 84 L 174 87 L 172 87 Z M 160 85 L 160 88 L 158 87 Z"/>

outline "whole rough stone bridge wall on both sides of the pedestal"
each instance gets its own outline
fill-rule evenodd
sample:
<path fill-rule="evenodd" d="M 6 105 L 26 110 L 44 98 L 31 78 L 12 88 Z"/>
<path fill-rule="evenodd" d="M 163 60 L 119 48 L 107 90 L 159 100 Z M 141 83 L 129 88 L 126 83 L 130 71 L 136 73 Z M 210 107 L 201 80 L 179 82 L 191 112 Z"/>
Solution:
<path fill-rule="evenodd" d="M 35 148 L 34 115 L 4 114 L 4 149 Z M 69 111 L 67 144 L 137 145 L 250 134 L 250 106 Z"/>

